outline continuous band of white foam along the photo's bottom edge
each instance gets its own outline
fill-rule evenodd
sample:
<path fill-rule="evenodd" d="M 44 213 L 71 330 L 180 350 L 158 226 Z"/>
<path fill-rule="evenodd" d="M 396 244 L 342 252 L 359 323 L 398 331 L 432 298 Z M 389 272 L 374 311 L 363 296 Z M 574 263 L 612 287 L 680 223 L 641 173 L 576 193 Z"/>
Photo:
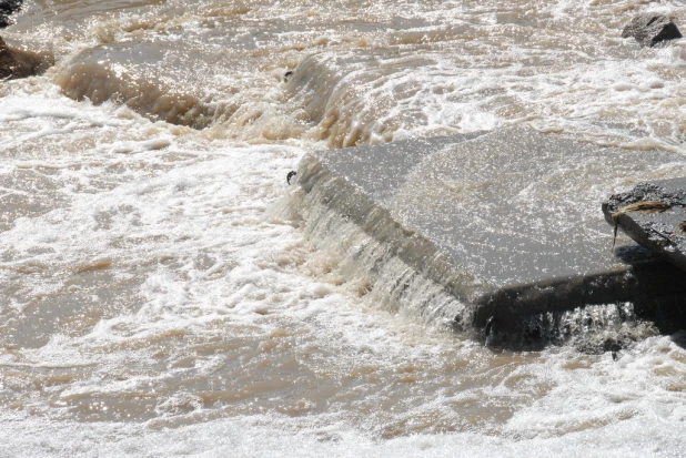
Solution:
<path fill-rule="evenodd" d="M 157 428 L 135 424 L 71 424 L 20 416 L 3 418 L 0 450 L 8 455 L 48 457 L 108 455 L 183 455 L 193 457 L 516 457 L 575 455 L 588 457 L 678 456 L 682 428 L 659 417 L 629 419 L 621 427 L 599 427 L 604 440 L 587 431 L 562 437 L 503 439 L 474 432 L 416 435 L 375 440 L 329 418 L 251 417 L 214 419 L 201 425 Z M 329 424 L 329 426 L 323 425 Z M 41 431 L 38 439 L 36 431 Z M 77 432 L 78 431 L 78 432 Z"/>

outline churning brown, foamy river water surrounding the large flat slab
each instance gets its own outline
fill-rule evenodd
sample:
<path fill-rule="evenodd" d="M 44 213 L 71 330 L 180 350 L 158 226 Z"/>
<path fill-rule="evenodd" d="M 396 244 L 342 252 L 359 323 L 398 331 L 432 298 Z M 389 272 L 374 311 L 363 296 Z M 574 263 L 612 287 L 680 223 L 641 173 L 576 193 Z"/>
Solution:
<path fill-rule="evenodd" d="M 686 334 L 491 350 L 282 211 L 314 149 L 526 124 L 684 156 L 686 41 L 621 39 L 637 11 L 686 26 L 679 0 L 28 0 L 1 34 L 54 65 L 0 82 L 0 456 L 684 456 Z"/>

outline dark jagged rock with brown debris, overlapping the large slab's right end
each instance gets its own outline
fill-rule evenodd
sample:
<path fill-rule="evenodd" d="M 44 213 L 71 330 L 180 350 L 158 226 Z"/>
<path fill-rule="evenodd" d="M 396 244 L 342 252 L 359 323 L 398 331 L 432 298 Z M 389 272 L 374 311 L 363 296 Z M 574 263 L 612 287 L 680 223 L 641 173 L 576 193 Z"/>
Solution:
<path fill-rule="evenodd" d="M 686 177 L 640 183 L 603 204 L 607 222 L 686 271 Z"/>

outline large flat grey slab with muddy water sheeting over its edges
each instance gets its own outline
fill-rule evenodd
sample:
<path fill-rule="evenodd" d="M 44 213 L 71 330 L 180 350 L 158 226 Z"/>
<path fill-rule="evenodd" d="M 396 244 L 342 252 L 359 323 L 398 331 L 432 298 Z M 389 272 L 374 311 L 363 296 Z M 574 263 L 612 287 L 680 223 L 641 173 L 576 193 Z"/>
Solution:
<path fill-rule="evenodd" d="M 493 316 L 517 345 L 551 337 L 533 317 L 591 305 L 686 327 L 686 274 L 628 238 L 613 250 L 598 211 L 614 187 L 664 165 L 686 166 L 665 151 L 510 129 L 311 153 L 295 194 L 305 231 L 394 306 L 464 330 Z"/>

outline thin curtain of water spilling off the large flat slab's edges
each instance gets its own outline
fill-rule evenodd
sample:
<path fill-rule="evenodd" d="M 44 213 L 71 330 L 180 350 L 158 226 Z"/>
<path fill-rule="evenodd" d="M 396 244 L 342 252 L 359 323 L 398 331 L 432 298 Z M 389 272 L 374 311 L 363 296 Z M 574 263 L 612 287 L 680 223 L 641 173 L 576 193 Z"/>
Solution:
<path fill-rule="evenodd" d="M 317 160 L 303 159 L 300 172 L 300 185 L 286 200 L 287 217 L 302 221 L 314 247 L 335 259 L 336 274 L 363 285 L 360 294 L 384 309 L 515 349 L 572 345 L 584 353 L 603 353 L 658 333 L 636 313 L 634 303 L 616 302 L 573 309 L 553 306 L 534 314 L 523 308 L 521 315 L 498 317 L 486 336 L 490 304 L 516 301 L 516 295 L 507 299 L 484 294 L 487 289 L 478 279 Z"/>

